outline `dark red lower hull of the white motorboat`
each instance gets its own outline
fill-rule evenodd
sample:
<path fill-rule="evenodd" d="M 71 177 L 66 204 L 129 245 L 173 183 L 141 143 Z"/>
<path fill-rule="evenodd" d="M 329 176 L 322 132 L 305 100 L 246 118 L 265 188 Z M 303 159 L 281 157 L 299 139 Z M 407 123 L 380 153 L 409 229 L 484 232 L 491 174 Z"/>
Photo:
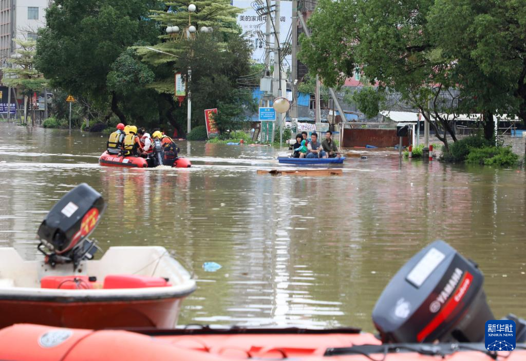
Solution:
<path fill-rule="evenodd" d="M 95 291 L 96 292 L 96 291 Z M 140 301 L 44 302 L 0 301 L 0 328 L 15 323 L 72 328 L 173 328 L 182 298 Z M 0 358 L 1 359 L 1 358 Z"/>

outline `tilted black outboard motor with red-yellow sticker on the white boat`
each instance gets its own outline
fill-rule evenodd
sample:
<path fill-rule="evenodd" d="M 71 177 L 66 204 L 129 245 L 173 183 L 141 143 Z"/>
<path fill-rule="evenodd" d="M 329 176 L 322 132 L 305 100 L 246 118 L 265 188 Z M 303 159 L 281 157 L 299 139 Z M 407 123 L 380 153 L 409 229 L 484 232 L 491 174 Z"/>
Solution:
<path fill-rule="evenodd" d="M 87 237 L 105 209 L 102 195 L 86 183 L 64 195 L 38 228 L 38 250 L 46 255 L 46 263 L 73 263 L 76 269 L 80 261 L 92 259 L 97 246 Z"/>

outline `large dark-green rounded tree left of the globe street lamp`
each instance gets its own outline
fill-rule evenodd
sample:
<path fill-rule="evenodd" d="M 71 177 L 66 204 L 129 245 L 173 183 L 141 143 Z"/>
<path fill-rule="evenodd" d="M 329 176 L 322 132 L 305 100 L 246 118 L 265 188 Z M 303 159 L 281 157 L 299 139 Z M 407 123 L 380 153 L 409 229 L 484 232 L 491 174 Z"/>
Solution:
<path fill-rule="evenodd" d="M 124 95 L 108 88 L 107 76 L 129 46 L 155 42 L 158 24 L 148 15 L 156 6 L 156 0 L 54 1 L 46 12 L 46 27 L 38 31 L 37 68 L 54 87 L 90 99 L 97 107 L 109 102 L 126 122 L 119 108 Z"/>

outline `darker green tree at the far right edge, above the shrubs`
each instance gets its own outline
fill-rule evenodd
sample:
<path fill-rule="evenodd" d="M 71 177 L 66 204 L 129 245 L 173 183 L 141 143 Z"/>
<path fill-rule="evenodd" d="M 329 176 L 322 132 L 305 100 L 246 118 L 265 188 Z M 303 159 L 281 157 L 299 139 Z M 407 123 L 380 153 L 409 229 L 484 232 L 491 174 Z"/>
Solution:
<path fill-rule="evenodd" d="M 485 137 L 493 136 L 492 114 L 526 120 L 526 0 L 437 0 L 430 31 L 464 109 L 482 112 Z"/>

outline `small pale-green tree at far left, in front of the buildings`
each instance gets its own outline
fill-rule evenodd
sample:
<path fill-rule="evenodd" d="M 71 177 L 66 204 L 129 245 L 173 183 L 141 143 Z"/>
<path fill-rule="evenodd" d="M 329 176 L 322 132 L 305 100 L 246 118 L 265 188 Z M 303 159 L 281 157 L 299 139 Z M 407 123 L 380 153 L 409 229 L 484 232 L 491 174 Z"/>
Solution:
<path fill-rule="evenodd" d="M 14 39 L 17 49 L 15 53 L 18 56 L 11 58 L 9 64 L 11 67 L 4 69 L 4 76 L 2 82 L 4 85 L 14 87 L 17 91 L 22 91 L 24 96 L 27 96 L 31 104 L 31 95 L 35 90 L 42 90 L 47 80 L 44 79 L 42 73 L 35 67 L 35 46 L 36 43 L 33 40 L 20 40 Z M 31 104 L 32 105 L 32 104 Z M 27 124 L 27 101 L 24 100 L 25 108 L 25 119 L 24 122 Z M 33 107 L 31 107 L 33 108 Z M 35 117 L 32 117 L 34 123 Z"/>

